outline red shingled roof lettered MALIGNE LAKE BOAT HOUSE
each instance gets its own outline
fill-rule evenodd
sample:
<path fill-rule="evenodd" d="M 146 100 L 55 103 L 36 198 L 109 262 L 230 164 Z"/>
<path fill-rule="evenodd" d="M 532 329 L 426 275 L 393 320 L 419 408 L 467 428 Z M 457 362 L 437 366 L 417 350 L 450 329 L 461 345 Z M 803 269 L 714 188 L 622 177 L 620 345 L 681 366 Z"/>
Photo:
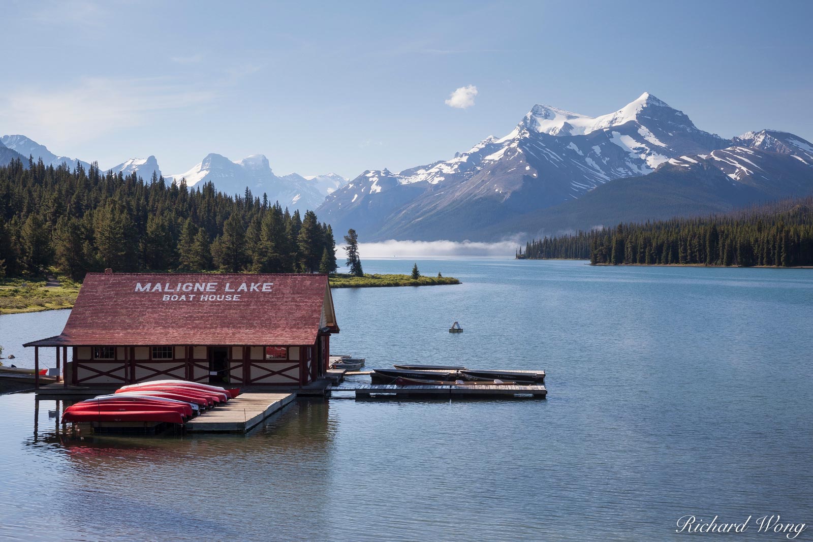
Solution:
<path fill-rule="evenodd" d="M 28 345 L 310 345 L 338 331 L 323 310 L 327 275 L 89 273 L 62 334 Z"/>

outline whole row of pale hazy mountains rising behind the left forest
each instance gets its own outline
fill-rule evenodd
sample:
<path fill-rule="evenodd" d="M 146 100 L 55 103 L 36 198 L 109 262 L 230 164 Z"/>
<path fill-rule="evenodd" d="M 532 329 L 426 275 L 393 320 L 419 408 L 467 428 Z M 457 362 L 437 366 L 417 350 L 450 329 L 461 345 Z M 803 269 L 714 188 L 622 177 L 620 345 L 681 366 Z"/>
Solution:
<path fill-rule="evenodd" d="M 76 168 L 77 165 L 82 165 L 85 169 L 90 167 L 89 163 L 77 158 L 57 156 L 45 145 L 40 145 L 28 137 L 20 135 L 0 137 L 0 164 L 7 164 L 14 158 L 20 158 L 24 163 L 28 163 L 29 156 L 33 156 L 34 160 L 42 159 L 43 163 L 54 167 L 62 163 L 66 163 L 71 169 Z M 163 175 L 158 160 L 154 156 L 131 158 L 103 171 L 121 172 L 125 176 L 135 173 L 147 182 L 153 175 L 156 178 Z M 280 202 L 280 205 L 288 207 L 291 212 L 297 209 L 300 212 L 315 209 L 324 202 L 325 196 L 347 182 L 344 177 L 335 173 L 308 177 L 300 176 L 297 173 L 276 176 L 268 159 L 262 154 L 253 154 L 239 162 L 232 162 L 220 154 L 208 154 L 201 163 L 196 164 L 189 171 L 177 175 L 163 175 L 163 177 L 167 182 L 173 180 L 180 182 L 185 178 L 186 184 L 189 186 L 211 181 L 215 185 L 215 189 L 229 195 L 242 195 L 246 192 L 247 187 L 257 197 L 262 197 L 263 193 L 267 193 L 272 202 Z"/>

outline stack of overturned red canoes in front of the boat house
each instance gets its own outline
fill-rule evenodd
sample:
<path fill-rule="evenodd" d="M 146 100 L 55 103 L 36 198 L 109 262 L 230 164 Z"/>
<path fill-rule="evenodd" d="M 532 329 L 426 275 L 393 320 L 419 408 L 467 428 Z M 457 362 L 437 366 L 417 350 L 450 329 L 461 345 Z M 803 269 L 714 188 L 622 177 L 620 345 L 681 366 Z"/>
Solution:
<path fill-rule="evenodd" d="M 62 423 L 182 424 L 239 394 L 238 388 L 220 388 L 187 380 L 153 380 L 71 405 L 65 409 Z"/>

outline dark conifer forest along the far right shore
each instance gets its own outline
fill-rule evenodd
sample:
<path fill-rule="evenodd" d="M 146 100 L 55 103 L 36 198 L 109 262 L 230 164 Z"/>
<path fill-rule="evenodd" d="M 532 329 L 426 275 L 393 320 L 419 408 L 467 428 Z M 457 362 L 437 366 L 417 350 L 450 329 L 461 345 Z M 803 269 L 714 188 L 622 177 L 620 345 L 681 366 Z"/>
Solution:
<path fill-rule="evenodd" d="M 593 264 L 794 267 L 813 265 L 813 197 L 726 215 L 620 223 L 528 241 L 516 258 Z"/>

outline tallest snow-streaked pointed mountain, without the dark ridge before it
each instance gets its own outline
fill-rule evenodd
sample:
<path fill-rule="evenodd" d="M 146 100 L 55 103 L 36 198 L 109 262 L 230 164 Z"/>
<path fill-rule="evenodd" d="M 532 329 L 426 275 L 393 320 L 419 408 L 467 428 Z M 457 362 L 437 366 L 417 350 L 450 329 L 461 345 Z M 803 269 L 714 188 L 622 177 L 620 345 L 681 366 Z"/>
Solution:
<path fill-rule="evenodd" d="M 728 145 L 650 93 L 598 117 L 536 105 L 505 137 L 487 137 L 450 160 L 398 173 L 364 171 L 318 212 L 337 231 L 355 228 L 371 241 L 476 235 L 507 215 Z"/>

